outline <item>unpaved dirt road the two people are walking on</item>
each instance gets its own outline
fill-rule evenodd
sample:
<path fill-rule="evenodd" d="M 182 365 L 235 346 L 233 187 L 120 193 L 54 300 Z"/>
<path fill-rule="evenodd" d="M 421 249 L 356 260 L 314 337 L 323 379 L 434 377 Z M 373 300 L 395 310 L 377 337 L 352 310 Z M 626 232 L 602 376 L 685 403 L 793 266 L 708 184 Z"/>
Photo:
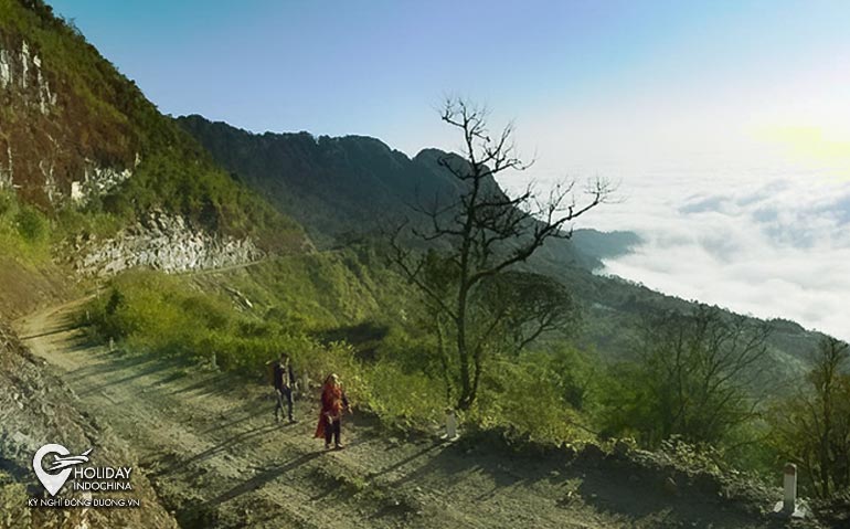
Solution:
<path fill-rule="evenodd" d="M 182 527 L 768 527 L 602 462 L 396 440 L 357 413 L 347 448 L 326 452 L 312 396 L 297 401 L 296 424 L 275 423 L 258 382 L 86 343 L 77 306 L 22 318 L 18 332 L 135 452 Z"/>

